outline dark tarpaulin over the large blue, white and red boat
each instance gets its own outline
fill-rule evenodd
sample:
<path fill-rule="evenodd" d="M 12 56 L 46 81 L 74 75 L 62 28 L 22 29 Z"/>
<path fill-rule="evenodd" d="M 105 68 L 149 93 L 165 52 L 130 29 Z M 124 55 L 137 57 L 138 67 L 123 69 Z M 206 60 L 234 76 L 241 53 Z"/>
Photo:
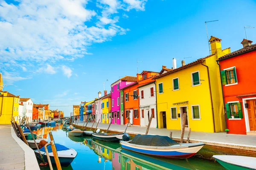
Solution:
<path fill-rule="evenodd" d="M 154 146 L 154 147 L 169 147 L 178 144 L 176 141 L 172 140 L 168 136 L 160 135 L 136 135 L 130 142 L 131 144 L 138 144 L 144 146 Z"/>

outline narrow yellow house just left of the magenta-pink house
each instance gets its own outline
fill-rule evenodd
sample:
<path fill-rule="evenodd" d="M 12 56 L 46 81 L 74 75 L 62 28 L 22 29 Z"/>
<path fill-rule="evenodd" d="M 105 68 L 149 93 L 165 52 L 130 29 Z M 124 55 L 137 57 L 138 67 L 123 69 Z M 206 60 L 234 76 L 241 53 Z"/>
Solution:
<path fill-rule="evenodd" d="M 111 93 L 102 98 L 102 123 L 109 124 L 109 114 L 111 113 Z"/>

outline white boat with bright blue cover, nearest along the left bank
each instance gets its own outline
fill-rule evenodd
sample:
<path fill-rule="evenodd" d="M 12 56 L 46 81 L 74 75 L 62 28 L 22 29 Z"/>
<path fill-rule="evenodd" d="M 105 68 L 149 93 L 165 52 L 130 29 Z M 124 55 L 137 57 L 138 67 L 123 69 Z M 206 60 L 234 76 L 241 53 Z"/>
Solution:
<path fill-rule="evenodd" d="M 65 147 L 61 144 L 55 144 L 55 147 L 56 147 L 56 150 L 57 150 L 57 153 L 58 153 L 58 158 L 59 158 L 59 161 L 61 163 L 61 166 L 67 167 L 68 165 L 71 164 L 71 162 L 77 156 L 76 150 L 74 150 L 72 148 L 67 148 L 67 147 Z M 49 157 L 50 157 L 50 160 L 51 160 L 52 164 L 56 164 L 55 160 L 54 160 L 54 157 L 53 157 L 51 145 L 47 146 L 47 150 L 48 150 Z M 35 152 L 35 156 L 38 157 L 42 161 L 42 158 L 39 155 L 38 150 L 35 150 L 34 152 Z M 44 155 L 43 156 L 44 161 L 48 162 L 48 159 L 47 159 L 47 156 L 46 156 L 46 153 L 45 153 L 45 148 L 42 147 L 40 149 L 40 152 L 41 152 L 42 155 Z"/>

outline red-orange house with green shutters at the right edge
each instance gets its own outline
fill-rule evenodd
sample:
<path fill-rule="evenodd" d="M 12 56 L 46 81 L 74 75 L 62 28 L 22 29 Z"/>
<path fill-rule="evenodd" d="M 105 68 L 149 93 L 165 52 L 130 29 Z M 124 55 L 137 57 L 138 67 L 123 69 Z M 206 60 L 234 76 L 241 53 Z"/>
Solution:
<path fill-rule="evenodd" d="M 256 44 L 244 39 L 243 48 L 218 59 L 228 133 L 256 135 Z"/>

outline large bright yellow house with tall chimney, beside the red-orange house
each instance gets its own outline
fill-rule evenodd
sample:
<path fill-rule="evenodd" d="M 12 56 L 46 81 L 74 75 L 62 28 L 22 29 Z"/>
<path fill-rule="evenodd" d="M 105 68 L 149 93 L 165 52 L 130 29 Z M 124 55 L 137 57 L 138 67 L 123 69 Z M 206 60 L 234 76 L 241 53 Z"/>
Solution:
<path fill-rule="evenodd" d="M 180 130 L 183 113 L 185 128 L 201 132 L 225 130 L 221 78 L 216 60 L 230 53 L 221 49 L 221 39 L 211 37 L 212 55 L 163 72 L 156 79 L 158 128 Z"/>

